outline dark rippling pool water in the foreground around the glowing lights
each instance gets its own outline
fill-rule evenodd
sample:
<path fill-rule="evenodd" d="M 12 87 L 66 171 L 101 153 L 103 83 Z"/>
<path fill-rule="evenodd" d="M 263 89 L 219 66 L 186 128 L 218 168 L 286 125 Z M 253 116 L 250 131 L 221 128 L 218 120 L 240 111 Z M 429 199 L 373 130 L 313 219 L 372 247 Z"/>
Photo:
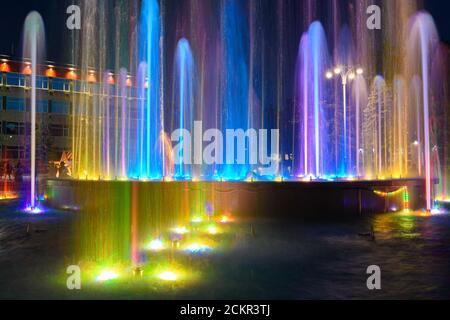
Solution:
<path fill-rule="evenodd" d="M 340 221 L 241 220 L 229 250 L 189 260 L 189 285 L 66 288 L 73 213 L 0 208 L 0 298 L 431 299 L 450 298 L 450 216 L 390 213 Z M 195 259 L 195 258 L 194 258 Z M 378 265 L 382 289 L 366 287 Z"/>

